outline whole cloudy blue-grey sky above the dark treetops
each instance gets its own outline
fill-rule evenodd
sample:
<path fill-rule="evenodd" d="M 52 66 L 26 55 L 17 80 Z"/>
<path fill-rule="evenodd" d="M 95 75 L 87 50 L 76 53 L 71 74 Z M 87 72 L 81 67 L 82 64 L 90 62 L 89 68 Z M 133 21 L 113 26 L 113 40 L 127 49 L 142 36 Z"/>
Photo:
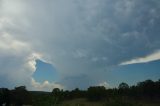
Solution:
<path fill-rule="evenodd" d="M 0 87 L 158 80 L 159 12 L 159 0 L 0 0 Z"/>

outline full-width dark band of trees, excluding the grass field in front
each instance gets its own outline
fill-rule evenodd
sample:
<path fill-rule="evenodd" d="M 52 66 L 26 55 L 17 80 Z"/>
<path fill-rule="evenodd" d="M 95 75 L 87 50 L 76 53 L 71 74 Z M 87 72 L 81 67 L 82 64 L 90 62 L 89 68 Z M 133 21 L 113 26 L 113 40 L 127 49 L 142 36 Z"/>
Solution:
<path fill-rule="evenodd" d="M 118 99 L 134 100 L 160 100 L 160 80 L 145 80 L 136 85 L 129 86 L 120 83 L 117 88 L 106 89 L 104 86 L 90 86 L 87 90 L 61 90 L 54 88 L 52 92 L 27 91 L 25 86 L 15 87 L 13 90 L 0 88 L 0 106 L 22 106 L 32 104 L 33 106 L 55 105 L 65 100 L 86 98 L 88 101 L 109 101 Z"/>

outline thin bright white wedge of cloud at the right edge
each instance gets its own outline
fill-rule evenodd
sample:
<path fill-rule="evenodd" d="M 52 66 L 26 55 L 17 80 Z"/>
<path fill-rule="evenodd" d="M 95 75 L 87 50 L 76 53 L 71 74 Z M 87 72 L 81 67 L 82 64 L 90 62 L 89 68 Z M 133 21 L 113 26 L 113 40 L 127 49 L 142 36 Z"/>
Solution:
<path fill-rule="evenodd" d="M 160 60 L 160 51 L 147 55 L 145 57 L 140 57 L 132 59 L 129 61 L 122 62 L 120 65 L 136 64 L 136 63 L 148 63 L 152 61 Z"/>

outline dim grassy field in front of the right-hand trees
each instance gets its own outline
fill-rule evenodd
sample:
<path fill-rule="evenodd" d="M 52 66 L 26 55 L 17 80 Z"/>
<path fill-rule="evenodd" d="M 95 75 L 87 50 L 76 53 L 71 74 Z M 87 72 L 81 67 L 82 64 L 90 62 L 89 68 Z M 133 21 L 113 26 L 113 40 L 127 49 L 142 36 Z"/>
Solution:
<path fill-rule="evenodd" d="M 160 106 L 160 102 L 153 101 L 120 101 L 120 100 L 111 100 L 111 101 L 99 101 L 99 102 L 90 102 L 84 98 L 73 99 L 64 101 L 57 106 Z"/>

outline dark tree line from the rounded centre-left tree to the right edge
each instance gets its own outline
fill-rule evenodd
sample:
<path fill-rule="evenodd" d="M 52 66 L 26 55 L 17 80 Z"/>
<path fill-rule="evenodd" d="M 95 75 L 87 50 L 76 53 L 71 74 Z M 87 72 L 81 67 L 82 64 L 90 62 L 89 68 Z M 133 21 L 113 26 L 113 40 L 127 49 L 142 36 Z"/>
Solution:
<path fill-rule="evenodd" d="M 114 97 L 154 100 L 160 99 L 160 80 L 145 80 L 132 86 L 122 82 L 118 88 L 112 89 L 106 89 L 104 86 L 91 86 L 87 90 L 76 88 L 72 91 L 54 88 L 52 95 L 57 97 L 59 101 L 75 98 L 87 98 L 90 101 L 99 101 L 113 99 Z"/>

